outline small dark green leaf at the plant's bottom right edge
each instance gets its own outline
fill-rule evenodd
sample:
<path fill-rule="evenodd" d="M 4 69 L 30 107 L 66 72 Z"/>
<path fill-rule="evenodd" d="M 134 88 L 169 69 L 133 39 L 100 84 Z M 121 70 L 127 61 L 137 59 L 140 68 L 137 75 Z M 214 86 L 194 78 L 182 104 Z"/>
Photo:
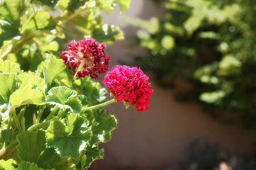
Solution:
<path fill-rule="evenodd" d="M 102 159 L 104 156 L 104 150 L 99 150 L 98 146 L 91 147 L 88 146 L 86 147 L 86 164 L 85 164 L 85 169 L 90 168 L 90 165 L 92 162 L 96 159 Z"/>

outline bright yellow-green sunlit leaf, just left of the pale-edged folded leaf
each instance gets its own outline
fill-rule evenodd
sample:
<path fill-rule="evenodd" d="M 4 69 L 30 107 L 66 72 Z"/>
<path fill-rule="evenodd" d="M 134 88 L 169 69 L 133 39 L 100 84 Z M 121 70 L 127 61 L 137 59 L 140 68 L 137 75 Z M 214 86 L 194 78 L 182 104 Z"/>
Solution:
<path fill-rule="evenodd" d="M 20 105 L 36 104 L 42 105 L 43 94 L 40 90 L 32 89 L 32 85 L 28 84 L 23 89 L 15 91 L 10 96 L 11 107 L 18 108 Z"/>

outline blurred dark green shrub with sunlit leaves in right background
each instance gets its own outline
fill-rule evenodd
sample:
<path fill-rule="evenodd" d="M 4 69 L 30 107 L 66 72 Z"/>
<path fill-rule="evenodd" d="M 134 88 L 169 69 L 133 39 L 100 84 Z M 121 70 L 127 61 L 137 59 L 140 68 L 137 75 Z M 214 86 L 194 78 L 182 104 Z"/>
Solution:
<path fill-rule="evenodd" d="M 162 63 L 147 68 L 156 81 L 173 88 L 184 79 L 192 88 L 177 99 L 202 104 L 221 122 L 256 130 L 255 2 L 160 2 L 164 17 L 141 22 L 147 30 L 138 32 L 139 44 Z"/>

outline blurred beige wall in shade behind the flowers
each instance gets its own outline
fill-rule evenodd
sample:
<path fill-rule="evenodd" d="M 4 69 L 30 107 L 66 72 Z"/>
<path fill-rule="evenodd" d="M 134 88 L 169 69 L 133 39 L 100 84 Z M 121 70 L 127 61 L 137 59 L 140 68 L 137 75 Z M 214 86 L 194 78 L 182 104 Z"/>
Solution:
<path fill-rule="evenodd" d="M 160 13 L 147 0 L 132 0 L 131 8 L 125 12 L 143 19 Z M 104 15 L 104 22 L 119 25 L 126 37 L 135 35 L 137 30 L 119 18 L 118 8 L 114 14 Z M 129 62 L 134 53 L 142 56 L 147 53 L 130 49 L 126 42 L 118 41 L 106 47 L 111 57 L 110 68 L 119 60 Z M 252 150 L 249 135 L 239 128 L 217 124 L 196 105 L 177 103 L 172 99 L 173 91 L 156 86 L 150 77 L 154 90 L 150 108 L 142 113 L 131 106 L 125 109 L 122 103 L 113 105 L 111 112 L 117 118 L 118 129 L 113 131 L 111 141 L 101 145 L 105 148 L 105 158 L 94 162 L 91 169 L 167 169 L 186 158 L 186 148 L 194 139 L 219 143 L 238 153 Z"/>

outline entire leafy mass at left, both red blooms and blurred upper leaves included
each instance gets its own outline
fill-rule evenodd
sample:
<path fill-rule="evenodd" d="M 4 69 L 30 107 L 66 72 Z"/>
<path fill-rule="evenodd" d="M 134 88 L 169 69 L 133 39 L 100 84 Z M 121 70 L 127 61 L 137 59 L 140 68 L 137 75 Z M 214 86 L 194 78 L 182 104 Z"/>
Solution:
<path fill-rule="evenodd" d="M 106 14 L 129 0 L 0 1 L 0 169 L 88 169 L 101 159 L 117 120 L 104 107 L 114 101 L 145 111 L 152 94 L 137 67 L 108 71 L 105 44 L 122 39 Z M 59 52 L 65 35 L 79 37 Z M 56 40 L 58 37 L 58 41 Z M 67 37 L 66 37 L 67 39 Z M 75 39 L 75 38 L 73 38 Z M 68 40 L 67 40 L 68 41 Z"/>

